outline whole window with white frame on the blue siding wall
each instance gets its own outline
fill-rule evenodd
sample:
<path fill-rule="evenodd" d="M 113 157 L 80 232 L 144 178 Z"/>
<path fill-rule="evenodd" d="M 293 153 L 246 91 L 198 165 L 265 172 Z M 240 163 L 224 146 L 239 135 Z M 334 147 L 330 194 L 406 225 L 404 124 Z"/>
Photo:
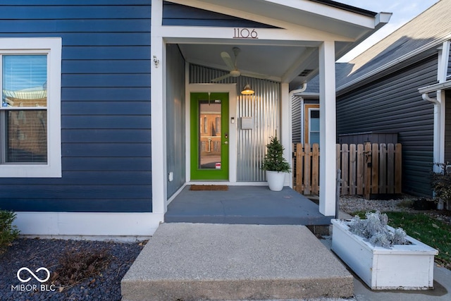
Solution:
<path fill-rule="evenodd" d="M 61 177 L 61 39 L 0 39 L 0 176 Z"/>

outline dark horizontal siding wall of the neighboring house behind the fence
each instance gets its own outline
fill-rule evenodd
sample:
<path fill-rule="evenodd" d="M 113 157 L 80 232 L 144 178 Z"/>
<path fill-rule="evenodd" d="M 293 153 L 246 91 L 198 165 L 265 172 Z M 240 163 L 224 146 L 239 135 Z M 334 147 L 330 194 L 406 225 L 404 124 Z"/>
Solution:
<path fill-rule="evenodd" d="M 433 104 L 422 99 L 419 87 L 437 80 L 437 57 L 396 70 L 357 90 L 339 95 L 337 133 L 388 131 L 402 143 L 403 192 L 431 196 L 425 176 L 433 161 Z"/>

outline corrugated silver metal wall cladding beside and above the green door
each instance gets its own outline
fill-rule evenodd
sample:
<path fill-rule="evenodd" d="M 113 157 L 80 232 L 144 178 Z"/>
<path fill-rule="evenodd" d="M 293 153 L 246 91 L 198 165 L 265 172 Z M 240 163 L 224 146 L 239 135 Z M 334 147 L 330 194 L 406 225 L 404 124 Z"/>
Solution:
<path fill-rule="evenodd" d="M 190 65 L 190 83 L 209 83 L 211 79 L 228 72 Z M 257 78 L 227 78 L 222 83 L 237 83 L 241 91 L 247 83 L 254 89 L 254 95 L 241 95 L 237 91 L 237 180 L 263 181 L 261 161 L 266 152 L 269 137 L 280 133 L 280 83 Z M 240 117 L 252 117 L 254 128 L 240 130 Z M 230 150 L 232 151 L 232 150 Z"/>

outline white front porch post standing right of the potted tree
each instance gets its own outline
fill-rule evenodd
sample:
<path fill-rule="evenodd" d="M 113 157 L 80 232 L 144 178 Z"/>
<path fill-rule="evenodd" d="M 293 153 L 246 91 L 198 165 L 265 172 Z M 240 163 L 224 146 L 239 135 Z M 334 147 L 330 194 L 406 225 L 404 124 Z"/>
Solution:
<path fill-rule="evenodd" d="M 335 116 L 335 44 L 326 41 L 319 47 L 319 211 L 335 215 L 336 116 Z"/>

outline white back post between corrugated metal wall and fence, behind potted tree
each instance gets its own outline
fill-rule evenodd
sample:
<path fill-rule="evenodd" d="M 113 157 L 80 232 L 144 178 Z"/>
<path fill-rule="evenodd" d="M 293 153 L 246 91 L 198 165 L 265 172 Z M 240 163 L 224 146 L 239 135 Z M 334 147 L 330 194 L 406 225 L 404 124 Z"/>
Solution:
<path fill-rule="evenodd" d="M 291 116 L 291 99 L 290 99 L 290 85 L 288 83 L 283 82 L 280 84 L 280 94 L 281 94 L 281 102 L 280 102 L 280 142 L 283 147 L 285 147 L 285 151 L 283 152 L 283 157 L 287 159 L 288 163 L 290 163 L 291 168 L 293 167 L 292 161 L 292 116 Z M 288 176 L 285 177 L 284 186 L 293 186 L 292 173 L 289 173 Z"/>

